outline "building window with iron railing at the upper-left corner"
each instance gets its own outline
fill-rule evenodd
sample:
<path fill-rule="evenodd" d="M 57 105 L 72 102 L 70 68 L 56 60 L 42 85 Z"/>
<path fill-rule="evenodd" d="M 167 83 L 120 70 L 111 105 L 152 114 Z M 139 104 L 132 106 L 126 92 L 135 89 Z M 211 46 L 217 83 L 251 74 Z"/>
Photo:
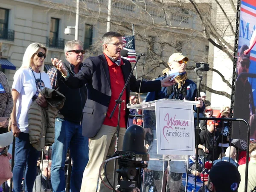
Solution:
<path fill-rule="evenodd" d="M 8 29 L 9 9 L 0 8 L 0 39 L 14 41 L 14 31 Z"/>

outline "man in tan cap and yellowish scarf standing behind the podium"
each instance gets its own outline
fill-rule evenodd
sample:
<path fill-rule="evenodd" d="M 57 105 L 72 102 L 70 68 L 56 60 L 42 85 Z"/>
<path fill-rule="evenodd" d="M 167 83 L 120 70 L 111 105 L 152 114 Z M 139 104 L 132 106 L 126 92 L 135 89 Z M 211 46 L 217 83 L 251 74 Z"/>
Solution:
<path fill-rule="evenodd" d="M 163 70 L 163 76 L 157 78 L 156 80 L 161 80 L 166 78 L 166 73 L 169 70 L 178 71 L 179 75 L 175 77 L 177 81 L 176 84 L 171 85 L 169 87 L 163 87 L 161 90 L 154 91 L 148 93 L 146 97 L 146 102 L 154 101 L 158 99 L 179 99 L 179 100 L 189 100 L 189 101 L 200 101 L 200 104 L 194 106 L 194 111 L 196 111 L 196 107 L 200 107 L 200 113 L 204 112 L 205 105 L 201 99 L 201 97 L 196 97 L 196 84 L 188 79 L 186 73 L 186 64 L 189 61 L 189 58 L 182 55 L 182 53 L 177 52 L 172 54 L 169 57 L 168 65 L 170 68 Z M 149 132 L 149 134 L 153 134 L 154 140 L 149 146 L 148 153 L 150 158 L 162 158 L 162 155 L 157 155 L 157 135 L 156 135 L 156 122 L 155 122 L 155 111 L 144 110 L 143 117 L 145 131 Z M 165 161 L 167 163 L 167 161 Z M 180 167 L 180 169 L 177 169 Z M 165 165 L 165 169 L 167 168 L 167 164 Z M 172 168 L 175 168 L 172 172 Z M 161 191 L 163 187 L 163 191 L 165 191 L 165 184 L 162 186 L 162 175 L 163 175 L 163 161 L 158 160 L 149 160 L 148 169 L 153 170 L 153 178 L 154 183 L 157 188 L 157 191 Z M 171 177 L 168 180 L 169 188 L 174 191 L 178 191 L 181 181 L 182 174 L 186 172 L 185 164 L 183 162 L 174 161 L 172 163 L 171 168 Z M 166 177 L 164 177 L 164 183 L 166 183 Z M 162 187 L 161 187 L 162 186 Z"/>

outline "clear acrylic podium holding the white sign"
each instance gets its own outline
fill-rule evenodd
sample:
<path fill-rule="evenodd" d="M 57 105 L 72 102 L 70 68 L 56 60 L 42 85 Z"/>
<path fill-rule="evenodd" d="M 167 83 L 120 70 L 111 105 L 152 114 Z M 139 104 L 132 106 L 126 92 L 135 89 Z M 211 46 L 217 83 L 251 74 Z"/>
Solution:
<path fill-rule="evenodd" d="M 146 146 L 148 147 L 150 160 L 147 162 L 148 168 L 143 170 L 142 192 L 191 192 L 195 190 L 195 180 L 196 191 L 203 185 L 200 176 L 195 177 L 188 172 L 189 165 L 193 162 L 192 156 L 157 154 L 155 106 L 156 102 L 165 104 L 170 101 L 175 101 L 180 106 L 197 103 L 175 99 L 159 99 L 137 105 L 127 105 L 127 108 L 143 111 L 143 127 L 146 124 L 148 127 L 144 128 L 151 128 L 154 137 L 153 141 L 148 143 L 150 145 Z"/>

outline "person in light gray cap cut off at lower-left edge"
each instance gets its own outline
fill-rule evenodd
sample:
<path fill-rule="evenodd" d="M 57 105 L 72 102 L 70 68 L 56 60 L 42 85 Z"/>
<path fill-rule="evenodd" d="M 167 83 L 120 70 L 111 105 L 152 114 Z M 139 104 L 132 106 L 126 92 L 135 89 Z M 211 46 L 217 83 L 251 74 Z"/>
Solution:
<path fill-rule="evenodd" d="M 12 143 L 13 136 L 11 132 L 0 134 L 0 185 L 6 180 L 12 178 L 12 167 L 9 162 L 12 155 L 8 153 L 7 146 Z"/>

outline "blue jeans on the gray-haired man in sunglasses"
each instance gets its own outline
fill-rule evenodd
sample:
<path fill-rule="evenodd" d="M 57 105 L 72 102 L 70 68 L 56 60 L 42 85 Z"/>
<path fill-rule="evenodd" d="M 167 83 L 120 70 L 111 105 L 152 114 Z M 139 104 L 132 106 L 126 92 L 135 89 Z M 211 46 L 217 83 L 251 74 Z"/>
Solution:
<path fill-rule="evenodd" d="M 65 159 L 67 148 L 73 160 L 70 189 L 80 192 L 84 169 L 88 163 L 88 138 L 82 136 L 79 123 L 55 119 L 55 141 L 52 145 L 51 181 L 54 192 L 65 192 Z"/>

